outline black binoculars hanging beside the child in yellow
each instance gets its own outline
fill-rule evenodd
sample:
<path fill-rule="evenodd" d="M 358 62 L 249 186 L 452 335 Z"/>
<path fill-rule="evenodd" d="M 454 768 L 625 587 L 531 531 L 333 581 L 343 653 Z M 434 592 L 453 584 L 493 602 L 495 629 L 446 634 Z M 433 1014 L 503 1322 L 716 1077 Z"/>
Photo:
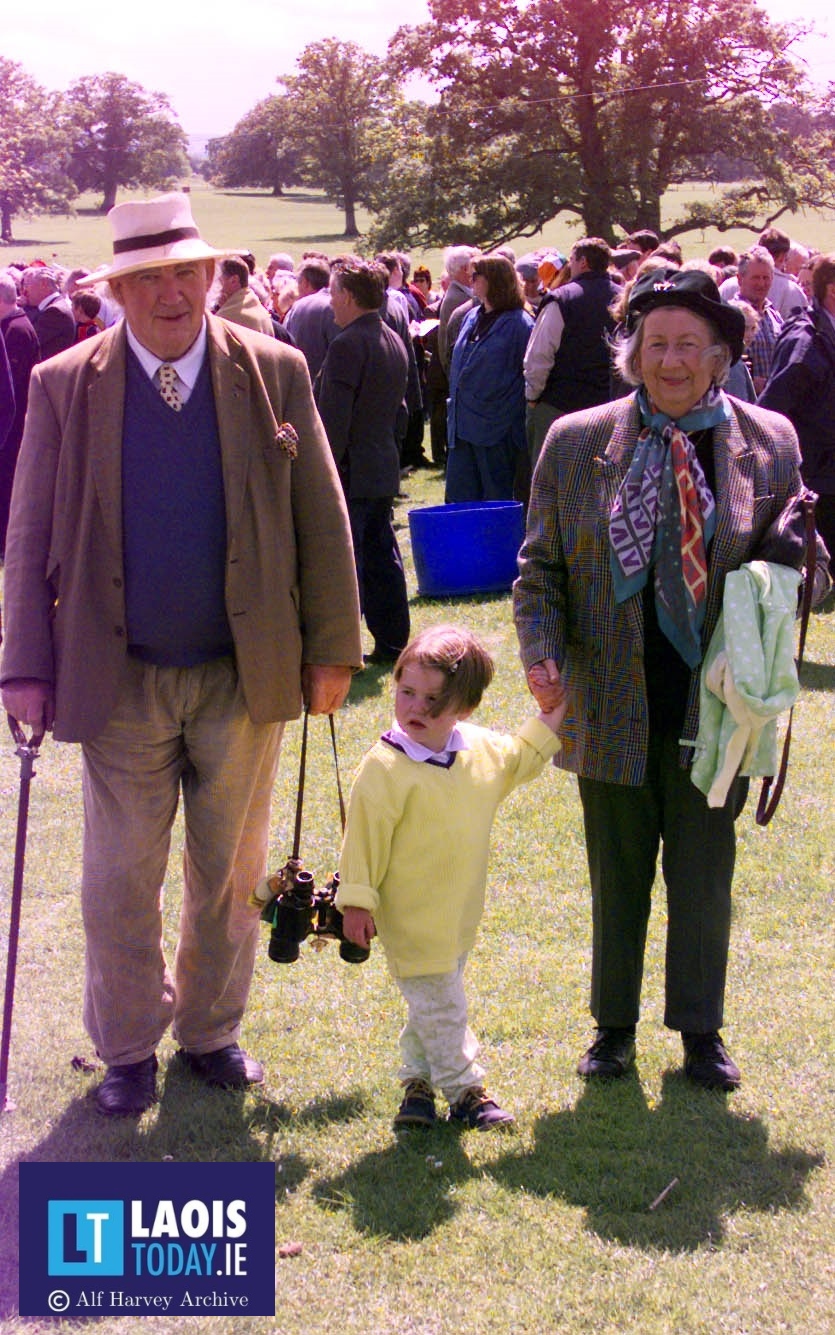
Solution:
<path fill-rule="evenodd" d="M 269 922 L 273 929 L 267 955 L 275 964 L 294 964 L 299 957 L 299 945 L 309 936 L 318 949 L 327 941 L 338 941 L 342 960 L 365 964 L 371 952 L 346 940 L 342 914 L 334 904 L 338 889 L 338 872 L 318 888 L 313 873 L 305 870 L 298 857 L 287 858 L 281 872 L 255 886 L 253 902 L 261 908 L 262 922 Z"/>

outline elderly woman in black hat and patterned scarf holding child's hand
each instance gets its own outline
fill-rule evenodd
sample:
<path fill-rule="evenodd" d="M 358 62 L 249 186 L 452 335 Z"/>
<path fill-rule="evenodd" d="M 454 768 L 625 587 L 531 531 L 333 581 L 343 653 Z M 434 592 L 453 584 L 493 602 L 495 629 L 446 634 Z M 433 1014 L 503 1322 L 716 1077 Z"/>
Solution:
<path fill-rule="evenodd" d="M 707 274 L 641 275 L 616 352 L 636 392 L 556 422 L 533 478 L 514 615 L 540 706 L 560 681 L 569 692 L 557 764 L 578 776 L 593 918 L 597 1033 L 584 1077 L 635 1060 L 663 844 L 664 1023 L 681 1033 L 691 1080 L 740 1080 L 719 1031 L 747 780 L 721 808 L 691 781 L 699 665 L 725 575 L 800 487 L 786 418 L 720 388 L 743 334 L 741 311 Z"/>

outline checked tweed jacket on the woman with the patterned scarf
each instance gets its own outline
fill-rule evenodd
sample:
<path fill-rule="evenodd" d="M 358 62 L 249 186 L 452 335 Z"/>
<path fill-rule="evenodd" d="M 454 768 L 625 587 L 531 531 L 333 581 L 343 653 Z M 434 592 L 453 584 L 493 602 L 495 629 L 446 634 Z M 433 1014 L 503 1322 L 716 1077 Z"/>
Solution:
<path fill-rule="evenodd" d="M 708 551 L 703 647 L 721 610 L 724 579 L 751 559 L 759 538 L 800 487 L 791 423 L 729 399 L 713 429 L 716 531 Z M 649 718 L 644 680 L 643 594 L 617 605 L 609 567 L 609 513 L 641 430 L 636 395 L 557 419 L 533 477 L 528 531 L 513 586 L 525 669 L 553 658 L 569 705 L 554 764 L 587 778 L 640 784 Z M 699 732 L 699 669 L 681 738 L 689 764 Z"/>

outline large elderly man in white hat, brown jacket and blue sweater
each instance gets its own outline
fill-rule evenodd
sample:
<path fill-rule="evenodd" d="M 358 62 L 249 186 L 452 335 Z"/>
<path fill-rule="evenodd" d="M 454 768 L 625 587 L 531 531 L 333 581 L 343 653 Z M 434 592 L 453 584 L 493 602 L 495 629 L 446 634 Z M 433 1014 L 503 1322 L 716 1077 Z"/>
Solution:
<path fill-rule="evenodd" d="M 339 708 L 361 642 L 305 359 L 206 314 L 218 252 L 188 196 L 108 216 L 124 319 L 32 374 L 0 684 L 13 718 L 81 744 L 96 1103 L 138 1116 L 168 1025 L 199 1080 L 263 1080 L 238 1037 L 282 729 L 302 700 Z M 160 898 L 180 798 L 170 971 Z"/>

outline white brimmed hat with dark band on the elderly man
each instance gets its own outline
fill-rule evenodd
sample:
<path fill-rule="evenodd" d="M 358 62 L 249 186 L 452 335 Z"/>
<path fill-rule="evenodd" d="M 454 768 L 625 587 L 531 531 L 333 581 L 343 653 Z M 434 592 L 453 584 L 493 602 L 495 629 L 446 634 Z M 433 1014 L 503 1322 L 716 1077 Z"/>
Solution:
<path fill-rule="evenodd" d="M 95 274 L 79 280 L 92 287 L 111 278 L 123 278 L 143 268 L 178 264 L 187 259 L 218 259 L 216 251 L 200 239 L 188 195 L 172 191 L 138 203 L 116 204 L 107 215 L 114 232 L 114 259 Z"/>

